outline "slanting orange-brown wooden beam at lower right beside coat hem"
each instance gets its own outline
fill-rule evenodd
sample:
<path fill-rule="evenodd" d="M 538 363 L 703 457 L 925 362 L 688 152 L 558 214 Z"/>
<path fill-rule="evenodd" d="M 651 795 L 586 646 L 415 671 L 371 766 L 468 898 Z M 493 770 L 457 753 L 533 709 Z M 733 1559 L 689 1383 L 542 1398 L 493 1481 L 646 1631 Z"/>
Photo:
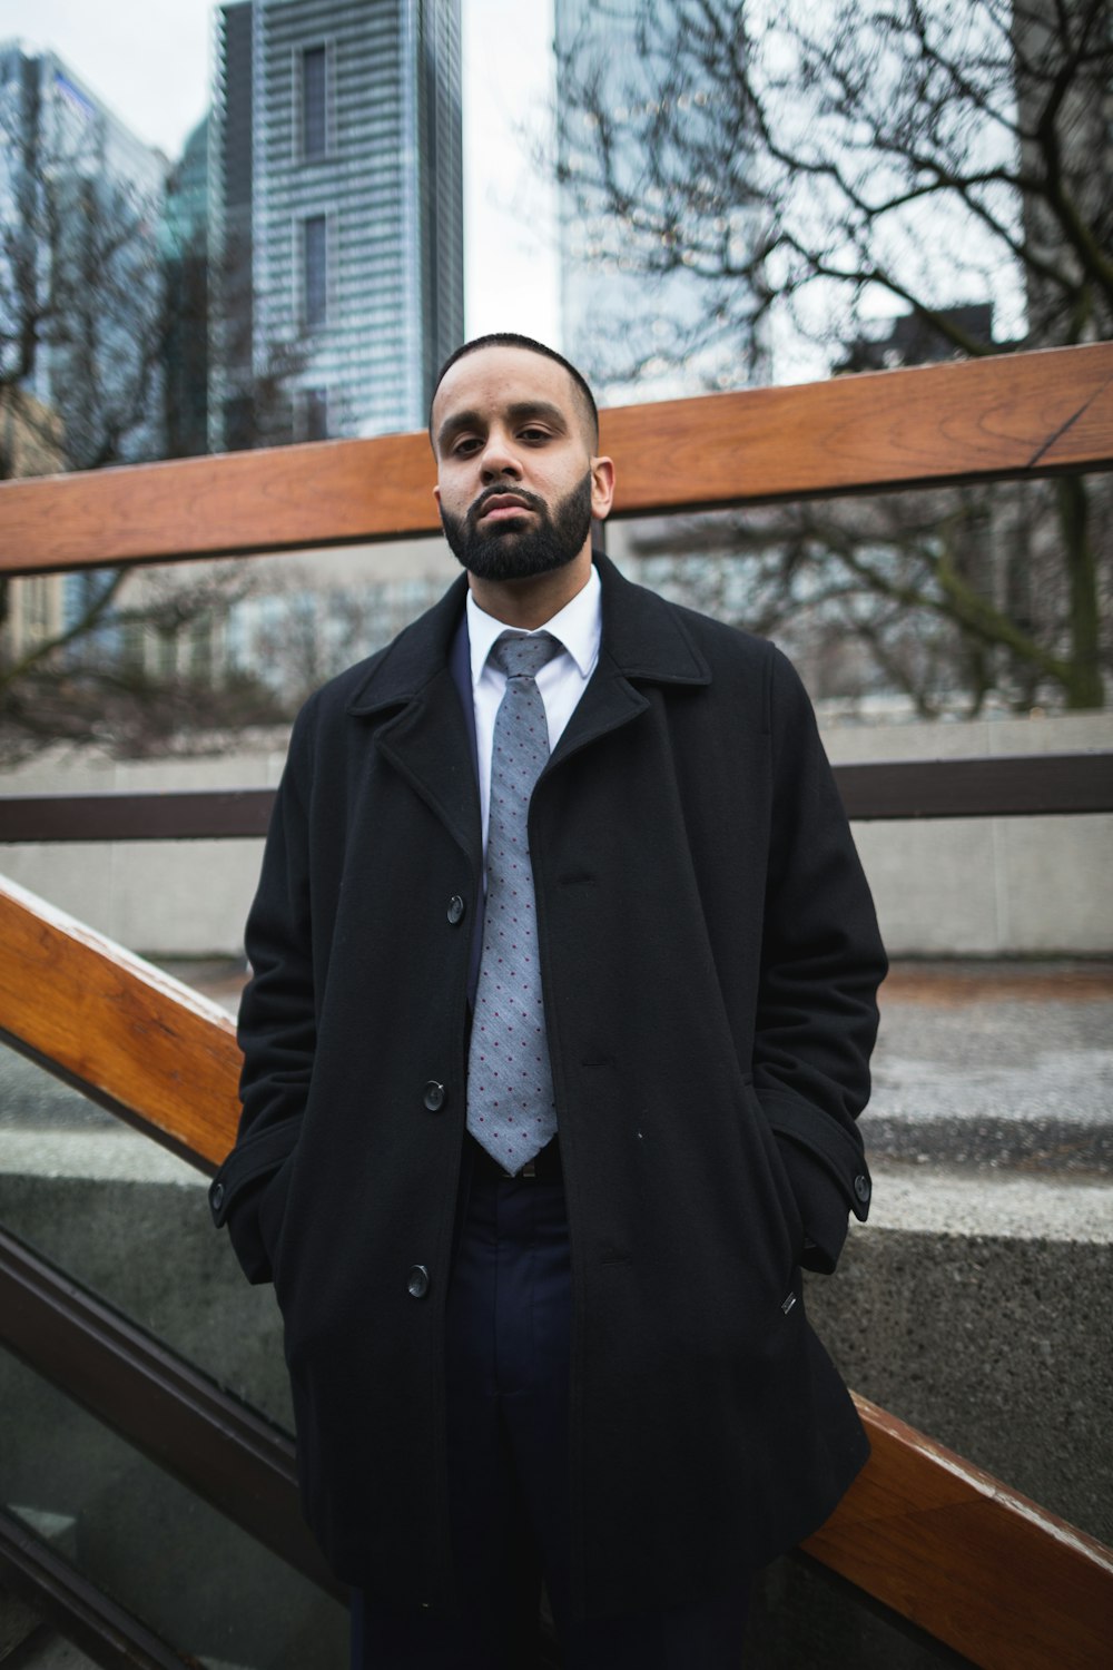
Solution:
<path fill-rule="evenodd" d="M 804 1550 L 983 1670 L 1095 1670 L 1113 1550 L 856 1398 L 873 1456 Z"/>

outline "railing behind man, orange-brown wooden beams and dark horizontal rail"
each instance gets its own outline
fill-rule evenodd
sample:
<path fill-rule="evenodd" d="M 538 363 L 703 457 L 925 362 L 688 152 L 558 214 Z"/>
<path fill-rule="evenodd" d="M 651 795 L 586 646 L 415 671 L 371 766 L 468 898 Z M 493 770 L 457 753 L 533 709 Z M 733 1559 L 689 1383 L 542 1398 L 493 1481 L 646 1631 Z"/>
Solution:
<path fill-rule="evenodd" d="M 606 412 L 602 433 L 619 514 L 1110 469 L 1113 346 L 629 407 Z M 392 436 L 5 483 L 0 573 L 431 533 L 431 481 L 426 438 Z M 856 817 L 1113 802 L 1108 755 L 843 767 L 841 787 Z M 265 805 L 262 792 L 170 797 L 170 810 L 144 797 L 10 800 L 0 830 L 250 835 Z M 212 1171 L 235 1129 L 232 1024 L 13 887 L 0 888 L 0 1035 Z M 808 1550 L 986 1670 L 1105 1662 L 1113 1553 L 864 1399 L 859 1409 L 873 1460 Z"/>

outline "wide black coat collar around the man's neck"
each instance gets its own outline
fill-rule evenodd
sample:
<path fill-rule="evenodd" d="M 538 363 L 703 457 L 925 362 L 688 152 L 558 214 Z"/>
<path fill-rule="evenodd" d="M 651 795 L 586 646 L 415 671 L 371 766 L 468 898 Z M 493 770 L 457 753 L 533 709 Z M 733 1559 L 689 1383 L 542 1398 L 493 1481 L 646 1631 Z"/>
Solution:
<path fill-rule="evenodd" d="M 709 685 L 711 670 L 672 605 L 631 584 L 601 551 L 594 553 L 594 561 L 602 583 L 602 653 L 596 678 L 606 676 L 609 668 L 611 675 L 627 680 Z M 349 713 L 377 713 L 412 701 L 447 668 L 466 595 L 467 576 L 461 574 L 432 610 L 375 658 Z"/>

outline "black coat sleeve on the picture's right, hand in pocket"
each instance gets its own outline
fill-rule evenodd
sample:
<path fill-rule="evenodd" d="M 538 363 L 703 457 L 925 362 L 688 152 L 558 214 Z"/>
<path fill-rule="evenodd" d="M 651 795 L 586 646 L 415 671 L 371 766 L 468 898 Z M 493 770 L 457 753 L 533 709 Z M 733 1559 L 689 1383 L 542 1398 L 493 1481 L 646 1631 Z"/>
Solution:
<path fill-rule="evenodd" d="M 804 1224 L 803 1263 L 831 1271 L 848 1211 L 869 1211 L 858 1114 L 869 1097 L 886 959 L 869 887 L 808 695 L 773 651 L 773 822 L 754 1087 Z"/>

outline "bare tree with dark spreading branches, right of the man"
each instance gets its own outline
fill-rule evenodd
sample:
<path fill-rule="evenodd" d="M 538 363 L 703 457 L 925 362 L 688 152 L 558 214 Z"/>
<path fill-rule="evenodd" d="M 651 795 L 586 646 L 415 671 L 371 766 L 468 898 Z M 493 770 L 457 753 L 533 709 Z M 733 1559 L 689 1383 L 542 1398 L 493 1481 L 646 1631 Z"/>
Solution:
<path fill-rule="evenodd" d="M 651 282 L 687 271 L 706 307 L 672 321 L 664 344 L 652 321 L 611 326 L 612 349 L 649 346 L 621 366 L 601 356 L 604 374 L 711 347 L 723 386 L 801 337 L 831 366 L 854 364 L 856 346 L 859 367 L 894 312 L 928 357 L 1113 334 L 1108 0 L 637 0 L 632 12 L 631 72 L 602 52 L 596 20 L 631 17 L 607 0 L 561 63 L 559 177 L 602 264 Z M 1005 339 L 971 329 L 968 304 L 990 299 Z M 969 496 L 946 509 L 936 498 L 929 533 L 899 501 L 911 524 L 888 514 L 888 543 L 876 508 L 859 521 L 801 508 L 796 533 L 816 546 L 804 568 L 829 593 L 828 618 L 849 620 L 896 681 L 903 668 L 921 705 L 928 690 L 894 638 L 908 611 L 949 638 L 951 675 L 975 703 L 996 686 L 1018 703 L 1050 691 L 1101 706 L 1108 494 L 1070 478 L 1036 498 L 1055 539 L 1035 549 L 1008 489 L 975 511 Z M 954 528 L 973 524 L 993 538 L 959 553 Z M 791 616 L 799 598 L 778 595 Z"/>

